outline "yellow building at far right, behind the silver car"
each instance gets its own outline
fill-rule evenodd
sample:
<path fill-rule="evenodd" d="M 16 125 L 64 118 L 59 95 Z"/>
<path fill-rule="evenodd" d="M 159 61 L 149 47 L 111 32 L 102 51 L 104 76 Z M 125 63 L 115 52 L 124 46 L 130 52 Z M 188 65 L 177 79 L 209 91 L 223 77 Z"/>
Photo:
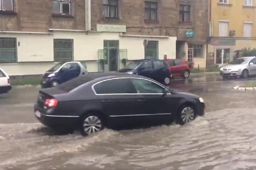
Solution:
<path fill-rule="evenodd" d="M 209 8 L 207 65 L 224 65 L 239 50 L 256 48 L 256 0 L 210 0 Z"/>

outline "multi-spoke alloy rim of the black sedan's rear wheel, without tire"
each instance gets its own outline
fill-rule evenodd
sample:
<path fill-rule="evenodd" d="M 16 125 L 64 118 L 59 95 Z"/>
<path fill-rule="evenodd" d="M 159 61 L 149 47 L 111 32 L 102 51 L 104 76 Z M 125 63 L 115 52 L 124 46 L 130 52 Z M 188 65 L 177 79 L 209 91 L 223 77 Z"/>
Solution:
<path fill-rule="evenodd" d="M 96 133 L 102 129 L 102 122 L 97 116 L 89 116 L 84 120 L 84 132 L 86 134 Z"/>

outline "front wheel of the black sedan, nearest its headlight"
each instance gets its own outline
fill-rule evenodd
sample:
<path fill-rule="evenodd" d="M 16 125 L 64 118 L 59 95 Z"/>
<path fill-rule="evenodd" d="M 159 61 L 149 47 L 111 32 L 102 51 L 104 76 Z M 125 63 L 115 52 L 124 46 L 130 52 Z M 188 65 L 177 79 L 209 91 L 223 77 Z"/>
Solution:
<path fill-rule="evenodd" d="M 183 105 L 178 110 L 177 123 L 184 125 L 192 122 L 196 117 L 195 108 L 192 105 Z"/>

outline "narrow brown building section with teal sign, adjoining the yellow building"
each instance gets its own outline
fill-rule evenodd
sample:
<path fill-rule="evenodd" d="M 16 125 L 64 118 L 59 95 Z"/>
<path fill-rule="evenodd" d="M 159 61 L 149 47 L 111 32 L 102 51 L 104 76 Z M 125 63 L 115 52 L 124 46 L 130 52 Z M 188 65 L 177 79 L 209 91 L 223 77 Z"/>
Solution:
<path fill-rule="evenodd" d="M 177 58 L 205 68 L 209 23 L 209 0 L 178 0 Z"/>

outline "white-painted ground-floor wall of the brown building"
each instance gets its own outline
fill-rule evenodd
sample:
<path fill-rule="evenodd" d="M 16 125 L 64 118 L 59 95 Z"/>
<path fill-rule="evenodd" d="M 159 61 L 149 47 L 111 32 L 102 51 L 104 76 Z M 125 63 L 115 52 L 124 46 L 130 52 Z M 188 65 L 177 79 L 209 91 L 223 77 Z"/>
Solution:
<path fill-rule="evenodd" d="M 103 49 L 103 40 L 119 40 L 119 49 L 128 50 L 128 60 L 144 59 L 143 41 L 158 41 L 159 59 L 166 54 L 168 58 L 176 56 L 176 37 L 122 37 L 119 33 L 109 32 L 71 32 L 56 31 L 51 34 L 0 34 L 0 37 L 16 37 L 17 63 L 0 63 L 9 75 L 43 74 L 56 62 L 53 62 L 53 39 L 74 40 L 74 60 L 87 62 L 89 72 L 97 72 L 98 49 Z"/>

